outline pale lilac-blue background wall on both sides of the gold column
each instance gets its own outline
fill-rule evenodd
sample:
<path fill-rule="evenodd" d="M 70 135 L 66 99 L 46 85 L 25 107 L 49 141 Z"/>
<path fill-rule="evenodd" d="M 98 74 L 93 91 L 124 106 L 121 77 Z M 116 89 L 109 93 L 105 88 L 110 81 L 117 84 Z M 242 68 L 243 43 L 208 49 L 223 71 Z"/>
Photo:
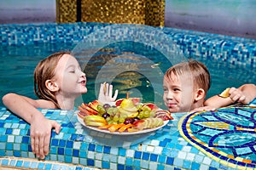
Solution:
<path fill-rule="evenodd" d="M 0 0 L 0 23 L 55 22 L 55 0 Z M 165 26 L 256 39 L 256 0 L 166 0 Z"/>

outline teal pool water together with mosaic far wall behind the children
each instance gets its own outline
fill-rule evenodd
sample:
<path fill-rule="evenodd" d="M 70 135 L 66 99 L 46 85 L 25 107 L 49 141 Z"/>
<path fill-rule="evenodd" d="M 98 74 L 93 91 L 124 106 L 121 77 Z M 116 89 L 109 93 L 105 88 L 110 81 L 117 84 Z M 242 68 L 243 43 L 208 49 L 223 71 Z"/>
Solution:
<path fill-rule="evenodd" d="M 35 29 L 35 27 L 38 29 L 38 26 L 28 26 L 32 29 Z M 55 28 L 55 26 L 51 25 L 44 26 L 49 26 L 52 30 Z M 232 55 L 229 54 L 230 49 L 224 46 L 224 44 L 231 43 L 228 41 L 224 42 L 221 39 L 223 37 L 219 37 L 219 39 L 214 37 L 209 40 L 206 40 L 206 37 L 204 37 L 205 40 L 202 41 L 202 47 L 188 40 L 188 44 L 192 44 L 194 48 L 190 48 L 190 51 L 186 54 L 183 46 L 180 45 L 178 47 L 177 45 L 178 43 L 184 43 L 184 40 L 181 41 L 179 39 L 184 37 L 184 33 L 187 33 L 186 31 L 182 35 L 180 32 L 173 34 L 172 31 L 156 31 L 152 27 L 132 25 L 128 26 L 130 28 L 129 30 L 124 29 L 121 25 L 110 27 L 102 25 L 103 27 L 100 31 L 91 31 L 96 26 L 92 24 L 88 32 L 84 33 L 84 36 L 90 35 L 84 39 L 80 37 L 79 39 L 74 38 L 74 41 L 71 41 L 73 37 L 65 36 L 67 40 L 64 41 L 64 36 L 60 36 L 62 39 L 60 37 L 60 39 L 52 38 L 44 42 L 44 39 L 40 40 L 39 38 L 36 42 L 25 42 L 24 40 L 23 45 L 19 42 L 22 42 L 22 39 L 26 39 L 26 37 L 22 37 L 20 32 L 23 29 L 26 31 L 28 28 L 17 25 L 17 30 L 20 30 L 18 32 L 19 34 L 13 30 L 16 38 L 20 36 L 19 41 L 11 40 L 11 37 L 9 37 L 10 39 L 4 38 L 6 35 L 3 31 L 2 39 L 8 41 L 0 47 L 0 56 L 2 59 L 0 63 L 0 96 L 9 92 L 15 92 L 35 98 L 33 94 L 33 69 L 40 59 L 44 59 L 49 54 L 61 50 L 72 51 L 78 59 L 81 58 L 79 59 L 80 64 L 83 65 L 84 72 L 88 78 L 88 94 L 83 95 L 84 102 L 96 99 L 97 88 L 100 82 L 112 82 L 114 88 L 119 89 L 119 98 L 125 97 L 126 92 L 129 91 L 131 96 L 136 94 L 136 97 L 142 97 L 143 101 L 156 102 L 161 107 L 164 107 L 161 100 L 161 95 L 163 94 L 161 86 L 164 72 L 173 64 L 189 58 L 200 60 L 207 65 L 210 71 L 212 88 L 210 88 L 207 97 L 218 94 L 227 87 L 239 87 L 243 83 L 256 82 L 256 71 L 252 69 L 255 65 L 255 57 L 250 56 L 250 51 L 245 46 L 249 42 L 247 39 L 244 39 L 247 42 L 246 44 L 237 42 L 236 46 L 238 48 L 235 46 L 234 49 L 231 49 L 231 52 L 237 58 L 236 62 L 236 58 L 232 59 Z M 66 30 L 67 35 L 71 34 L 69 27 L 72 29 L 75 28 L 73 25 L 62 26 L 62 30 Z M 78 29 L 79 25 L 76 30 Z M 58 28 L 56 30 L 61 29 Z M 110 30 L 113 31 L 112 33 L 108 33 L 110 36 L 104 37 L 105 32 L 109 32 Z M 119 31 L 119 34 L 115 34 L 114 31 Z M 150 31 L 152 33 L 148 34 Z M 134 32 L 138 32 L 140 36 L 134 36 Z M 168 33 L 171 34 L 172 38 L 167 37 Z M 28 37 L 31 36 L 30 33 L 26 34 Z M 130 34 L 130 37 L 127 34 Z M 153 39 L 152 35 L 154 34 L 158 34 L 158 38 Z M 196 32 L 194 34 L 196 35 Z M 39 35 L 42 36 L 41 33 Z M 191 36 L 193 39 L 190 37 L 190 41 L 194 39 L 198 41 L 201 38 L 198 36 L 198 39 L 196 39 L 195 35 L 193 37 Z M 213 37 L 213 35 L 211 36 Z M 47 38 L 45 39 L 47 40 Z M 239 38 L 236 39 L 236 41 L 240 40 Z M 32 41 L 31 39 L 29 40 Z M 177 40 L 180 42 L 175 42 Z M 253 44 L 253 42 L 254 40 L 251 40 L 250 43 Z M 11 43 L 11 45 L 7 46 L 8 43 Z M 90 43 L 91 45 L 88 45 Z M 222 43 L 222 45 L 219 45 L 220 49 L 217 48 L 218 43 Z M 165 44 L 169 45 L 163 47 Z M 232 46 L 229 45 L 227 47 L 231 48 Z M 216 52 L 225 48 L 228 50 L 224 51 L 224 54 L 220 53 L 218 56 Z M 240 49 L 241 51 L 239 51 Z M 249 46 L 249 49 L 252 50 L 253 48 L 251 49 L 251 46 Z M 255 49 L 253 50 L 251 52 L 252 54 L 255 53 Z M 175 58 L 172 54 L 175 55 Z M 225 54 L 227 55 L 225 56 Z M 248 63 L 247 60 L 251 62 Z M 130 68 L 125 68 L 127 65 L 130 65 Z M 112 79 L 109 75 L 112 76 Z M 79 102 L 77 102 L 77 105 L 80 104 Z M 0 105 L 3 106 L 2 101 Z"/>

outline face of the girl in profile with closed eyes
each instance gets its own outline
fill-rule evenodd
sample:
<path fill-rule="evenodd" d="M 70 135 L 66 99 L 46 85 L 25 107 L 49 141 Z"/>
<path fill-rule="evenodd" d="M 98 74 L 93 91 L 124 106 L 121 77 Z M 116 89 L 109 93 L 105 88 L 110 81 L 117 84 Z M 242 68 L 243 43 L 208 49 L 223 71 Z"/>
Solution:
<path fill-rule="evenodd" d="M 64 54 L 55 68 L 55 83 L 64 97 L 76 98 L 87 92 L 86 77 L 79 62 L 70 54 Z"/>

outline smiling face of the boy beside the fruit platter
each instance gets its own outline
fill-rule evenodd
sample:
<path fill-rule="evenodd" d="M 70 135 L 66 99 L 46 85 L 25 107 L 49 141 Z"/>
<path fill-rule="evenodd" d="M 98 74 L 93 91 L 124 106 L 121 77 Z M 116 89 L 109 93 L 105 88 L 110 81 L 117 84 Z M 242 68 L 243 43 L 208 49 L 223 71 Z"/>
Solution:
<path fill-rule="evenodd" d="M 194 102 L 193 81 L 188 77 L 177 77 L 173 72 L 171 77 L 163 81 L 163 99 L 168 111 L 191 111 Z"/>

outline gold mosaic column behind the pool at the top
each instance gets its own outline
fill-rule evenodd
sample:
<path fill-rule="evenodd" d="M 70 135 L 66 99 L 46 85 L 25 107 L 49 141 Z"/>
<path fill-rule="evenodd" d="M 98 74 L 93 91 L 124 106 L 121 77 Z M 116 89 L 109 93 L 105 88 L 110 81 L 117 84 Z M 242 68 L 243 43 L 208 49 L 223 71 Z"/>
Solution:
<path fill-rule="evenodd" d="M 164 26 L 165 21 L 165 0 L 58 0 L 56 6 L 61 23 L 76 22 L 78 15 L 83 22 Z"/>

